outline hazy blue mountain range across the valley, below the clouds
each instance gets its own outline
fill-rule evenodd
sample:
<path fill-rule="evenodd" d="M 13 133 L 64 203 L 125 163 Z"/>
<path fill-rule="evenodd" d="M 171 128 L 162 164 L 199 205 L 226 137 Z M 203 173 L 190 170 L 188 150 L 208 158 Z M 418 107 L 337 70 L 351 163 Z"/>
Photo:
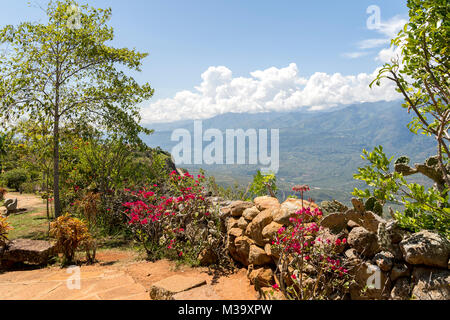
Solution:
<path fill-rule="evenodd" d="M 362 149 L 383 145 L 388 156 L 408 155 L 412 162 L 423 161 L 435 153 L 433 139 L 412 134 L 411 121 L 401 101 L 340 106 L 328 112 L 270 112 L 259 114 L 227 113 L 203 120 L 203 130 L 270 129 L 280 130 L 279 185 L 288 192 L 293 184 L 313 187 L 316 201 L 346 201 L 358 185 L 352 177 L 364 165 Z M 172 150 L 172 131 L 185 128 L 193 132 L 193 121 L 155 124 L 155 133 L 144 138 L 152 147 Z M 204 143 L 204 146 L 207 143 Z M 181 165 L 190 170 L 205 169 L 217 182 L 237 181 L 247 185 L 260 166 L 254 165 Z M 360 185 L 360 184 L 359 184 Z"/>

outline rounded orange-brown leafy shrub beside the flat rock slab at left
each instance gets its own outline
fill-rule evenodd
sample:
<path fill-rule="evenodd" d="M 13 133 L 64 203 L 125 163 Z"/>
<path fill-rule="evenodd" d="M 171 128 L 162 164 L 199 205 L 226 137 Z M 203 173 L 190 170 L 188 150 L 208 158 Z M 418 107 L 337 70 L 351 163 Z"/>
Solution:
<path fill-rule="evenodd" d="M 50 224 L 50 236 L 56 239 L 56 250 L 64 255 L 64 263 L 72 262 L 81 246 L 84 246 L 88 260 L 95 258 L 95 252 L 90 252 L 92 236 L 83 220 L 66 213 Z"/>

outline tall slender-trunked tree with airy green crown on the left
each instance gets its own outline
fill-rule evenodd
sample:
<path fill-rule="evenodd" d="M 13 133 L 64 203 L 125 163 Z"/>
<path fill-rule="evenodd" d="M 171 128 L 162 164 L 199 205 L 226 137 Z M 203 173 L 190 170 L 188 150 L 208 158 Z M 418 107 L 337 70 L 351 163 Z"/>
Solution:
<path fill-rule="evenodd" d="M 107 45 L 114 38 L 107 25 L 111 9 L 64 0 L 50 2 L 46 13 L 47 24 L 25 22 L 0 30 L 0 43 L 11 49 L 0 61 L 0 114 L 3 122 L 24 115 L 35 121 L 50 119 L 59 216 L 60 126 L 90 123 L 139 140 L 138 134 L 151 130 L 139 125 L 136 105 L 149 99 L 153 89 L 124 72 L 140 71 L 147 54 Z"/>

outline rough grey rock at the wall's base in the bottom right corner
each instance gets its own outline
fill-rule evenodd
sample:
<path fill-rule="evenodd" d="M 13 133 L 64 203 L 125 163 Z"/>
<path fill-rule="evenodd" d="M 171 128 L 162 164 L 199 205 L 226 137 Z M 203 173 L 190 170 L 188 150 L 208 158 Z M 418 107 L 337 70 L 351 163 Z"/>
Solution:
<path fill-rule="evenodd" d="M 412 273 L 412 296 L 419 300 L 450 300 L 450 271 L 415 267 Z"/>

